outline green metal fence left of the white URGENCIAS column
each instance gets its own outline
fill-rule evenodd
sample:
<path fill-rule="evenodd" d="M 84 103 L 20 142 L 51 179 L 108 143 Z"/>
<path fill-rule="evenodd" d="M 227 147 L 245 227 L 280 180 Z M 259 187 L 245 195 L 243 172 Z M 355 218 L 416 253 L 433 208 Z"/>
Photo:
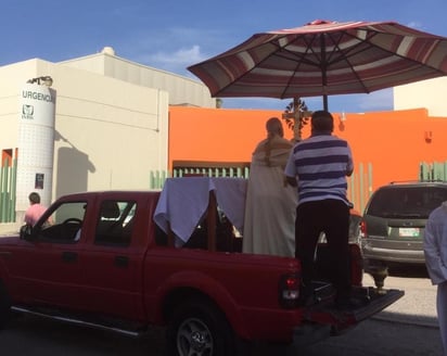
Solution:
<path fill-rule="evenodd" d="M 5 158 L 0 174 L 0 223 L 15 223 L 17 160 Z"/>

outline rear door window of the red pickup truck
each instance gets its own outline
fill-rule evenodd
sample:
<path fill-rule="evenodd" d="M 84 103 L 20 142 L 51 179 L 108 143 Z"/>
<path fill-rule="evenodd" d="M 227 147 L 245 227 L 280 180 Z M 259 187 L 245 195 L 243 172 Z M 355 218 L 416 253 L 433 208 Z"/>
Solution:
<path fill-rule="evenodd" d="M 137 203 L 105 200 L 101 203 L 94 243 L 129 245 Z"/>

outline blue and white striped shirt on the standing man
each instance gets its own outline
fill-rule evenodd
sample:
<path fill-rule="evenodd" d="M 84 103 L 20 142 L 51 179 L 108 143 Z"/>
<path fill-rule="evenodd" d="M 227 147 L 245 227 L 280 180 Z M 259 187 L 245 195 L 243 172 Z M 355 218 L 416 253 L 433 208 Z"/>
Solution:
<path fill-rule="evenodd" d="M 346 175 L 353 168 L 349 144 L 327 134 L 295 144 L 284 173 L 297 178 L 298 205 L 324 199 L 339 199 L 349 205 Z"/>

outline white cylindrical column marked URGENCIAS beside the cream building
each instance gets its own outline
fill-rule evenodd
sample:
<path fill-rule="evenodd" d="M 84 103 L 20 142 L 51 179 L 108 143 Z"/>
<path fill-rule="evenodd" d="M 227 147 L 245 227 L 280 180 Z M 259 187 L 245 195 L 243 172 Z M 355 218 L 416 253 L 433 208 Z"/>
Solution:
<path fill-rule="evenodd" d="M 36 191 L 41 203 L 51 203 L 55 90 L 37 84 L 23 86 L 20 97 L 17 155 L 17 218 L 29 206 L 28 195 Z M 18 220 L 17 220 L 18 221 Z"/>

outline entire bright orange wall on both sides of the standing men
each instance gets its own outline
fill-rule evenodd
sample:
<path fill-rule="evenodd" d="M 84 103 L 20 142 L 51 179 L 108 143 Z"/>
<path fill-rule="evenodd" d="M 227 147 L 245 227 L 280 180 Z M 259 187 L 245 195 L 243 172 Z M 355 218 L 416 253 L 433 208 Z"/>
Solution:
<path fill-rule="evenodd" d="M 250 162 L 256 143 L 266 137 L 265 123 L 280 111 L 169 107 L 171 162 Z M 425 109 L 365 114 L 347 113 L 341 126 L 334 113 L 334 135 L 346 139 L 355 165 L 372 164 L 373 190 L 392 180 L 416 180 L 419 163 L 447 161 L 447 118 L 429 117 Z M 293 132 L 284 123 L 285 137 Z M 425 140 L 431 132 L 432 140 Z M 309 125 L 303 137 L 309 136 Z"/>

